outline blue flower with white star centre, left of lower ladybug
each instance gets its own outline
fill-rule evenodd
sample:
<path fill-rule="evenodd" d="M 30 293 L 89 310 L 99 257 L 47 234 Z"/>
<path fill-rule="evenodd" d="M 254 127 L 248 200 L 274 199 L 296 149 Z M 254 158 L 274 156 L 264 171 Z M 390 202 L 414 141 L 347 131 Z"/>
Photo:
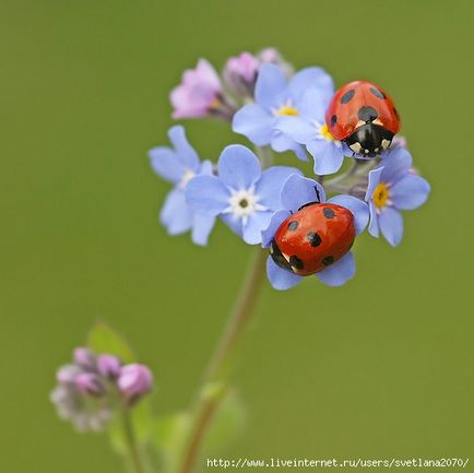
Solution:
<path fill-rule="evenodd" d="M 217 176 L 198 176 L 186 188 L 194 211 L 224 222 L 250 245 L 261 243 L 275 210 L 281 208 L 283 182 L 298 169 L 274 166 L 262 172 L 258 157 L 246 146 L 233 144 L 221 154 Z"/>

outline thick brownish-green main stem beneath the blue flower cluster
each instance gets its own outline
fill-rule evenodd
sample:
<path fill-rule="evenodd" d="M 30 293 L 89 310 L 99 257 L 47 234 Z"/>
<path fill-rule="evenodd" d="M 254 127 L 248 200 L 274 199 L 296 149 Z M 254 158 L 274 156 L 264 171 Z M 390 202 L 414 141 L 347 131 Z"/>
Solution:
<path fill-rule="evenodd" d="M 205 373 L 200 397 L 194 407 L 193 423 L 183 452 L 180 473 L 191 473 L 193 471 L 202 441 L 211 425 L 212 416 L 225 395 L 225 379 L 238 342 L 248 326 L 260 294 L 265 274 L 265 251 L 257 248 L 237 303 Z"/>

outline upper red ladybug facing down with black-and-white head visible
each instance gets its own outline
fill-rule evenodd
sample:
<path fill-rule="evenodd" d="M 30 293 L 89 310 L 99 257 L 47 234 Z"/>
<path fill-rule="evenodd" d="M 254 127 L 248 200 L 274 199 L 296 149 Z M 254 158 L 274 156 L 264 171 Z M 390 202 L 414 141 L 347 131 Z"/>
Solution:
<path fill-rule="evenodd" d="M 375 157 L 392 144 L 400 130 L 400 117 L 393 100 L 378 85 L 354 81 L 332 97 L 325 125 L 355 155 Z"/>

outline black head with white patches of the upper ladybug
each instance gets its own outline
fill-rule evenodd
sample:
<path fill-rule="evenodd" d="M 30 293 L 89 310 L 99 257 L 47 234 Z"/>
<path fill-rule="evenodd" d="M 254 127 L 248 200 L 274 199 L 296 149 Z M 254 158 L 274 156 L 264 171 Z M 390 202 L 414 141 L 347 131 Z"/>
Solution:
<path fill-rule="evenodd" d="M 358 127 L 354 133 L 346 138 L 345 142 L 354 153 L 375 157 L 389 149 L 393 133 L 381 125 L 366 123 Z"/>

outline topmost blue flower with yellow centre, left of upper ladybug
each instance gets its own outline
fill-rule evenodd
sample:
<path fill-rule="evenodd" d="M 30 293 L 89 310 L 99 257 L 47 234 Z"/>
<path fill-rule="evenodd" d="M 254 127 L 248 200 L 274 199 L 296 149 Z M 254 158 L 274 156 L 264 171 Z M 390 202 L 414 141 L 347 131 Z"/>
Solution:
<path fill-rule="evenodd" d="M 270 144 L 276 152 L 292 150 L 306 161 L 304 147 L 277 130 L 275 125 L 280 117 L 295 118 L 309 114 L 307 107 L 313 102 L 308 96 L 331 97 L 333 92 L 331 76 L 320 68 L 303 69 L 287 82 L 281 68 L 263 64 L 256 84 L 256 104 L 246 105 L 237 111 L 233 130 L 245 134 L 258 146 Z"/>

